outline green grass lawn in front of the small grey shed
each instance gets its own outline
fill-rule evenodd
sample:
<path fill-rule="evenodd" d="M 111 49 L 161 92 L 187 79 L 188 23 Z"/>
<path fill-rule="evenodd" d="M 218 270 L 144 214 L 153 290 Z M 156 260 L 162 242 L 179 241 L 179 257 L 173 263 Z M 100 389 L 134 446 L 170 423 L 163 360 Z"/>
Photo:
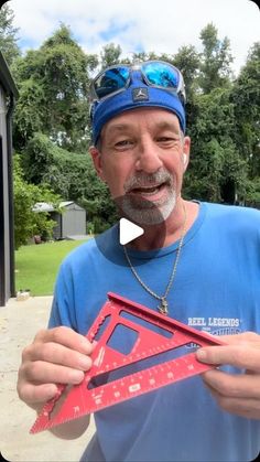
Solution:
<path fill-rule="evenodd" d="M 51 296 L 64 257 L 83 240 L 61 240 L 23 246 L 15 251 L 15 289 L 31 296 Z"/>

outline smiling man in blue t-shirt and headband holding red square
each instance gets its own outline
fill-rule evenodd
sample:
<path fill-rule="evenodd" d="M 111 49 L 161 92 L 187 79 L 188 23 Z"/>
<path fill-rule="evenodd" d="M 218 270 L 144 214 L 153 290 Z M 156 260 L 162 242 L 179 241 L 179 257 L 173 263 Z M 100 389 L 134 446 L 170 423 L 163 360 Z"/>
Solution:
<path fill-rule="evenodd" d="M 83 380 L 94 350 L 84 335 L 112 291 L 226 334 L 227 345 L 197 351 L 216 365 L 203 376 L 97 412 L 82 460 L 250 461 L 260 449 L 260 214 L 182 198 L 191 140 L 176 68 L 115 65 L 94 79 L 91 97 L 96 171 L 144 234 L 121 246 L 116 225 L 65 259 L 50 329 L 23 352 L 19 395 L 39 410 L 56 384 Z M 88 421 L 52 431 L 77 438 Z"/>

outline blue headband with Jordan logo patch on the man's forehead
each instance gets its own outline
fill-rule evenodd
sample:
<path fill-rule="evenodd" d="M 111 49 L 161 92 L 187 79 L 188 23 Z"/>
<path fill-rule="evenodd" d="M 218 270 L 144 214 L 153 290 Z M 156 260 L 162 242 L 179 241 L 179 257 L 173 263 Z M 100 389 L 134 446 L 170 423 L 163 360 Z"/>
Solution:
<path fill-rule="evenodd" d="M 148 86 L 138 71 L 132 72 L 129 87 L 123 92 L 94 104 L 93 142 L 95 146 L 105 123 L 123 111 L 141 107 L 158 107 L 170 110 L 177 116 L 181 129 L 185 132 L 185 110 L 177 95 L 166 88 Z"/>

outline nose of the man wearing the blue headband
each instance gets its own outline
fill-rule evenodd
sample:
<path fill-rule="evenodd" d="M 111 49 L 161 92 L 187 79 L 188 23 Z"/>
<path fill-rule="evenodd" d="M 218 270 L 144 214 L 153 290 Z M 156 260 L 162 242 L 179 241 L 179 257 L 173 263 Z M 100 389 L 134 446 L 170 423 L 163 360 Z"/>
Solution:
<path fill-rule="evenodd" d="M 136 169 L 147 173 L 153 173 L 162 166 L 163 162 L 160 158 L 159 147 L 152 140 L 142 142 L 139 147 Z"/>

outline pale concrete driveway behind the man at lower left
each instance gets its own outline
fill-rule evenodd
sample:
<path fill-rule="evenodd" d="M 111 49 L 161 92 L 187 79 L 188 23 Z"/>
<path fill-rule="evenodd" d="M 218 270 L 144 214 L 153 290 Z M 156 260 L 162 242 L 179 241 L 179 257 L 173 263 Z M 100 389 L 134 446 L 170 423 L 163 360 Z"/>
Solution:
<path fill-rule="evenodd" d="M 94 422 L 77 440 L 59 440 L 44 431 L 29 434 L 35 412 L 17 395 L 21 352 L 45 327 L 52 297 L 11 299 L 0 308 L 0 451 L 8 461 L 76 462 L 95 431 Z"/>

